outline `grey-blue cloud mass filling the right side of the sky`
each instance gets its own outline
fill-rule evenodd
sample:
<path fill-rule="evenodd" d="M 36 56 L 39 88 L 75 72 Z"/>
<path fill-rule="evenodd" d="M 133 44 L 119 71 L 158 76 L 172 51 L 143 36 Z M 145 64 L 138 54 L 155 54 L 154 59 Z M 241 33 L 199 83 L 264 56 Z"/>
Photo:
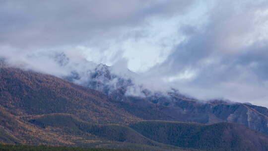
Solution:
<path fill-rule="evenodd" d="M 194 78 L 172 81 L 173 86 L 202 99 L 225 97 L 268 106 L 267 7 L 264 0 L 217 1 L 207 24 L 180 28 L 188 38 L 148 77 L 191 70 Z"/>

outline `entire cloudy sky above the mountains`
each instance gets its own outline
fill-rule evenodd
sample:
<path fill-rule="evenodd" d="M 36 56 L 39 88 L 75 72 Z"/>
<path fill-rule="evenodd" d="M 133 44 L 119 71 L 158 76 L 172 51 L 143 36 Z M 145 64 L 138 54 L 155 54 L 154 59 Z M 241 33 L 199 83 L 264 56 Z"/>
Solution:
<path fill-rule="evenodd" d="M 268 107 L 267 0 L 0 0 L 1 57 L 61 76 L 59 52 L 152 89 Z"/>

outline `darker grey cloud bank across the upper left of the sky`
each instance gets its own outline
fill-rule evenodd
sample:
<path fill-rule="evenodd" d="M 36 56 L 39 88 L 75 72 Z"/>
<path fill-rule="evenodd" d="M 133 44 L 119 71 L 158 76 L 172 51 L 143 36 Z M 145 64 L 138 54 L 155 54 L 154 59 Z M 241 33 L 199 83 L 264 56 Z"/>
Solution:
<path fill-rule="evenodd" d="M 193 0 L 1 0 L 0 44 L 20 48 L 103 45 L 151 16 L 183 13 Z"/>

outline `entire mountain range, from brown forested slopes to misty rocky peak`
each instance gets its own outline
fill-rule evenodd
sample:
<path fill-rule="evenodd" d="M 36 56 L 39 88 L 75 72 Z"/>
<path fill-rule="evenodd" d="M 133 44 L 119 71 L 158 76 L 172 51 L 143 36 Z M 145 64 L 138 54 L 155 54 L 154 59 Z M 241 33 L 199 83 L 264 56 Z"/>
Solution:
<path fill-rule="evenodd" d="M 136 151 L 268 151 L 265 107 L 202 102 L 176 90 L 141 89 L 142 96 L 126 95 L 134 82 L 104 65 L 88 71 L 88 80 L 80 85 L 73 83 L 79 73 L 73 73 L 61 79 L 1 64 L 0 142 Z"/>

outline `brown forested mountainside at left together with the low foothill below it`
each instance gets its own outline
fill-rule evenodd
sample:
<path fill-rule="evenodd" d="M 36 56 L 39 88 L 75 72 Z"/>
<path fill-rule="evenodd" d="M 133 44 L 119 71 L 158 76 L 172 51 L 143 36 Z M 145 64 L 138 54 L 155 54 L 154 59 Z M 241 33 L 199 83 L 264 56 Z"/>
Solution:
<path fill-rule="evenodd" d="M 192 151 L 149 140 L 127 127 L 142 119 L 109 99 L 52 75 L 0 68 L 0 142 Z"/>

